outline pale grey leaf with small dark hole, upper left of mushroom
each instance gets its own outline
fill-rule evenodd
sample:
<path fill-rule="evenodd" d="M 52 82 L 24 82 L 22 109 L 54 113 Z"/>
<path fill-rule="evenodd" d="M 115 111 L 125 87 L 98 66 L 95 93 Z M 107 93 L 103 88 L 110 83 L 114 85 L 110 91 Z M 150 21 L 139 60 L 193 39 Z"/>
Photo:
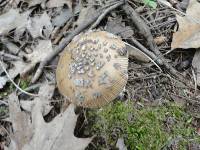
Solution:
<path fill-rule="evenodd" d="M 46 12 L 41 16 L 35 16 L 28 20 L 27 29 L 33 38 L 46 37 L 49 38 L 53 30 L 50 17 Z M 43 35 L 44 34 L 44 35 Z"/>

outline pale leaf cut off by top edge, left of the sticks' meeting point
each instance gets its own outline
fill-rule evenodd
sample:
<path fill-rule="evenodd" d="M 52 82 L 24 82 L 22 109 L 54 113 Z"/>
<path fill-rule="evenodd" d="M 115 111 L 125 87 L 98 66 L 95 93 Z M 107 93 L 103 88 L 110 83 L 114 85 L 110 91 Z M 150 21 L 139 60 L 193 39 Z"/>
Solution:
<path fill-rule="evenodd" d="M 72 0 L 49 0 L 46 4 L 48 8 L 62 7 L 66 4 L 70 9 L 72 8 Z"/>

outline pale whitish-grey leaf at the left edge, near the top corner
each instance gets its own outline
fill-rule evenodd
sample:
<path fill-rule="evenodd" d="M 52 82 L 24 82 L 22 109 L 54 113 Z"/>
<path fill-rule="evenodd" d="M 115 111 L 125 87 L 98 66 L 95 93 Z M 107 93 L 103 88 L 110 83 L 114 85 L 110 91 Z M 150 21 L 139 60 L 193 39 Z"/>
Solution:
<path fill-rule="evenodd" d="M 18 9 L 10 9 L 0 16 L 0 36 L 7 34 L 15 28 L 24 28 L 27 24 L 29 12 L 20 14 Z"/>

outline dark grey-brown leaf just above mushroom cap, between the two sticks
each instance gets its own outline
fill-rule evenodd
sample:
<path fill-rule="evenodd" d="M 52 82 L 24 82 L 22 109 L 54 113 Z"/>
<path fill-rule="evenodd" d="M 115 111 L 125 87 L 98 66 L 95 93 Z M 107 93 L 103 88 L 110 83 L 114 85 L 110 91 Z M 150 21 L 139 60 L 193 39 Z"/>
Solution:
<path fill-rule="evenodd" d="M 122 22 L 122 17 L 108 18 L 105 29 L 110 33 L 121 36 L 123 39 L 130 38 L 134 33 L 131 27 L 125 26 L 125 23 Z"/>

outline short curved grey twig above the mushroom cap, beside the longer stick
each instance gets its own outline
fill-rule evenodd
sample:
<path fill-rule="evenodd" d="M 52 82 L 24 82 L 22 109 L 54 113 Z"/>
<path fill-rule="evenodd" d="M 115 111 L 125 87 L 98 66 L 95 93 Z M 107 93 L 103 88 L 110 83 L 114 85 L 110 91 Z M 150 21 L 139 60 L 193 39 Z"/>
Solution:
<path fill-rule="evenodd" d="M 122 4 L 124 4 L 124 2 L 118 2 L 116 4 L 114 4 L 113 6 L 110 6 L 109 8 L 107 8 L 100 16 L 99 18 L 95 21 L 95 23 L 90 27 L 89 30 L 96 28 L 99 23 L 103 20 L 103 18 L 109 13 L 111 12 L 113 9 L 116 9 L 117 7 L 121 6 Z"/>

